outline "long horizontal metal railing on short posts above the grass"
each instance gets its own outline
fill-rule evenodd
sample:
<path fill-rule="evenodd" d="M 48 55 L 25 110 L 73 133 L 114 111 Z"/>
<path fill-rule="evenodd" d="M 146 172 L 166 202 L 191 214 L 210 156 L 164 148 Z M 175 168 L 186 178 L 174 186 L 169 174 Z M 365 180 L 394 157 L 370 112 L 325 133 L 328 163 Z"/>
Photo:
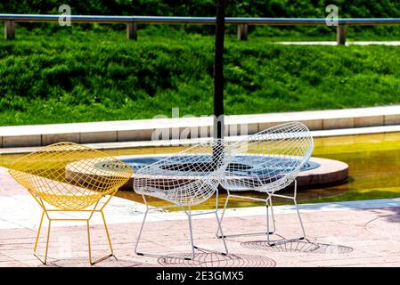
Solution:
<path fill-rule="evenodd" d="M 58 22 L 64 15 L 35 15 L 35 14 L 0 14 L 0 21 L 4 21 L 4 38 L 15 37 L 15 22 Z M 137 24 L 195 24 L 215 25 L 215 17 L 160 17 L 160 16 L 87 16 L 71 15 L 71 23 L 107 23 L 126 24 L 127 38 L 137 39 Z M 326 25 L 324 18 L 225 18 L 227 25 L 238 27 L 238 39 L 246 40 L 248 27 L 255 25 L 265 26 L 314 26 Z M 349 18 L 338 19 L 337 43 L 346 44 L 346 31 L 348 26 L 376 26 L 400 25 L 399 18 Z"/>

